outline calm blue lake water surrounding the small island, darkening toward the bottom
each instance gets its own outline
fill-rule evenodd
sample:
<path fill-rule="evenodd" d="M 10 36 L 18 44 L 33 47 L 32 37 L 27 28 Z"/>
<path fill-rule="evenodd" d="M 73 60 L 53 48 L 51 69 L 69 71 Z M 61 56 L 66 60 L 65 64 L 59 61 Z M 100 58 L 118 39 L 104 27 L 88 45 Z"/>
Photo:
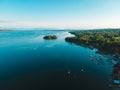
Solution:
<path fill-rule="evenodd" d="M 43 39 L 51 34 L 58 39 Z M 54 30 L 0 32 L 0 90 L 112 90 L 109 56 L 67 43 L 67 36 Z"/>

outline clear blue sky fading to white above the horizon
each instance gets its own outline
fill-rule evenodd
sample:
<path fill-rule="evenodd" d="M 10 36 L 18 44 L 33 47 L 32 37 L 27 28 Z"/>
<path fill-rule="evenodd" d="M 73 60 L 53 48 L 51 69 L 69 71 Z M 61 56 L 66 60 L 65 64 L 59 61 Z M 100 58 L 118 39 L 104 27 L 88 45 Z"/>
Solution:
<path fill-rule="evenodd" d="M 0 27 L 120 28 L 120 0 L 0 0 Z"/>

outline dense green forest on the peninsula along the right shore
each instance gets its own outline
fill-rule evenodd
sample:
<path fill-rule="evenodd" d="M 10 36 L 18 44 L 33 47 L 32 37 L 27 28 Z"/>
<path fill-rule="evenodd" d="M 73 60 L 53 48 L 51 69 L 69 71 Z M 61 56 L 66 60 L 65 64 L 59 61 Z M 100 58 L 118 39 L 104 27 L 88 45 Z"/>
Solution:
<path fill-rule="evenodd" d="M 99 29 L 72 31 L 74 37 L 67 37 L 67 42 L 97 48 L 103 54 L 120 54 L 120 29 Z"/>

